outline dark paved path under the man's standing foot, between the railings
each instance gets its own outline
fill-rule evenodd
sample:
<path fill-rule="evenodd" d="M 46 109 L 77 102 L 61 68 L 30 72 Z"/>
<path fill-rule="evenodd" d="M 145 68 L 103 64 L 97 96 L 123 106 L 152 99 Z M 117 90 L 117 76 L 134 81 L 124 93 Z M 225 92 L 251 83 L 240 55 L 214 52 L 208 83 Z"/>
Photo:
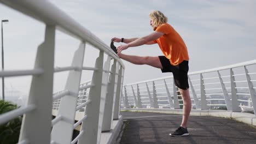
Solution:
<path fill-rule="evenodd" d="M 121 144 L 165 143 L 256 143 L 256 127 L 229 118 L 190 116 L 190 136 L 172 137 L 182 115 L 150 112 L 121 112 L 126 127 Z"/>

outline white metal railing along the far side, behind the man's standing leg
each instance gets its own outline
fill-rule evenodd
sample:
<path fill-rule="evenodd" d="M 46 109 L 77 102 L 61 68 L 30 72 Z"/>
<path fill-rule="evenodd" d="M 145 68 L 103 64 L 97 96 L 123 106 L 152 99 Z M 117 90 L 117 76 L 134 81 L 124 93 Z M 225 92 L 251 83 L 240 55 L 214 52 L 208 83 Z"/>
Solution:
<path fill-rule="evenodd" d="M 255 113 L 255 71 L 256 60 L 253 60 L 189 73 L 193 108 L 205 110 L 224 107 L 229 111 L 247 109 Z M 173 76 L 167 76 L 125 85 L 121 106 L 180 109 L 182 98 L 173 83 Z M 147 87 L 147 91 L 144 91 L 144 87 Z"/>

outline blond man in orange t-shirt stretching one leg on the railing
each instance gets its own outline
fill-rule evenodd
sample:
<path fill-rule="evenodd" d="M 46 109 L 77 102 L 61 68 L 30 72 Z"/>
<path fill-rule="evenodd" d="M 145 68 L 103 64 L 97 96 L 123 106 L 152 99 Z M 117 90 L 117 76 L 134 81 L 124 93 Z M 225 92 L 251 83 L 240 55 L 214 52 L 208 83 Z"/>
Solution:
<path fill-rule="evenodd" d="M 123 42 L 117 48 L 117 54 L 120 58 L 133 64 L 147 64 L 152 67 L 159 68 L 162 73 L 172 72 L 174 83 L 179 88 L 179 92 L 183 99 L 183 117 L 180 127 L 170 134 L 171 136 L 186 136 L 189 135 L 187 123 L 191 111 L 191 100 L 189 95 L 188 85 L 188 50 L 181 36 L 174 28 L 167 23 L 167 17 L 160 11 L 155 10 L 149 14 L 150 26 L 154 32 L 142 38 L 113 38 L 114 42 Z M 130 56 L 121 53 L 129 47 L 141 46 L 144 44 L 158 43 L 164 56 L 158 57 L 140 57 Z"/>

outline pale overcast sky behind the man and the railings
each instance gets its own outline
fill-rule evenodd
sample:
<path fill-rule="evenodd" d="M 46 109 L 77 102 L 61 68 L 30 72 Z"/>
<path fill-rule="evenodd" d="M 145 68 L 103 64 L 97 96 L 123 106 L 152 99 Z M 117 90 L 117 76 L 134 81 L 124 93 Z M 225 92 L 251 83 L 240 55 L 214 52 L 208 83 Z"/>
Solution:
<path fill-rule="evenodd" d="M 153 10 L 162 11 L 168 17 L 168 23 L 182 36 L 188 47 L 190 72 L 255 59 L 254 0 L 51 2 L 107 45 L 113 37 L 134 38 L 148 35 L 152 32 L 148 14 Z M 2 4 L 0 18 L 9 20 L 3 26 L 5 70 L 32 69 L 37 46 L 44 39 L 44 24 Z M 79 43 L 78 40 L 57 32 L 55 67 L 69 66 Z M 84 66 L 94 66 L 97 50 L 86 46 L 85 51 Z M 162 55 L 157 44 L 131 47 L 123 53 L 139 56 Z M 147 65 L 133 65 L 125 61 L 124 64 L 124 84 L 172 75 L 162 74 L 161 70 Z M 65 87 L 66 75 L 66 72 L 55 74 L 55 92 Z M 82 82 L 90 80 L 90 76 L 91 72 L 83 73 Z M 5 87 L 27 94 L 30 81 L 30 76 L 6 78 Z"/>

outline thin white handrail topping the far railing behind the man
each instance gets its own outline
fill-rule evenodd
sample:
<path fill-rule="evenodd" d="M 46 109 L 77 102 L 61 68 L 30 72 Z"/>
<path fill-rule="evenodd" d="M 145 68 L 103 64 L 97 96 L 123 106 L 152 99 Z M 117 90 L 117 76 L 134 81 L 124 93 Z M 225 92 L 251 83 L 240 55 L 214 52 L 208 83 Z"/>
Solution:
<path fill-rule="evenodd" d="M 252 64 L 256 64 L 256 59 L 253 59 L 252 61 L 247 61 L 247 62 L 242 62 L 242 63 L 237 63 L 237 64 L 226 65 L 224 67 L 218 67 L 218 68 L 212 68 L 212 69 L 206 69 L 206 70 L 193 71 L 191 73 L 188 73 L 188 75 L 196 75 L 196 74 L 201 74 L 201 73 L 211 73 L 213 71 L 219 71 L 219 70 L 243 67 L 245 65 L 252 65 Z M 173 78 L 173 76 L 165 76 L 165 77 L 160 77 L 160 78 L 152 79 L 152 80 L 146 80 L 146 81 L 139 81 L 139 82 L 135 82 L 135 83 L 129 83 L 129 84 L 124 85 L 124 86 L 131 86 L 131 85 L 136 85 L 136 84 L 139 84 L 139 83 L 159 81 L 159 80 L 171 79 L 171 78 Z"/>

